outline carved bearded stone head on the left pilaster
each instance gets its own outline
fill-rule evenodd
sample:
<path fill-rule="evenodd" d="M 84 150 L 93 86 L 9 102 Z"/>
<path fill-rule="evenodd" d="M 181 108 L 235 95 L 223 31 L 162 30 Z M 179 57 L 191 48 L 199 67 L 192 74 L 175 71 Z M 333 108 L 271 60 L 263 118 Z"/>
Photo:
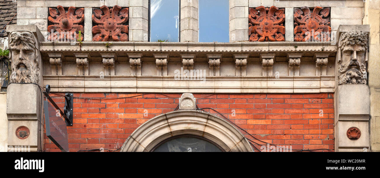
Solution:
<path fill-rule="evenodd" d="M 40 83 L 40 50 L 38 40 L 30 31 L 9 33 L 11 83 Z"/>

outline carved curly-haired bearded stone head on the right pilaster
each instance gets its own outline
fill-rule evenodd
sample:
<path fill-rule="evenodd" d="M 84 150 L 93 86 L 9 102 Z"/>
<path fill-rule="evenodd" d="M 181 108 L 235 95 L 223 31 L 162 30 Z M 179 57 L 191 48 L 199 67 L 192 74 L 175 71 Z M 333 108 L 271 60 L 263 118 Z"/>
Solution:
<path fill-rule="evenodd" d="M 367 84 L 368 34 L 344 32 L 338 46 L 338 85 Z"/>

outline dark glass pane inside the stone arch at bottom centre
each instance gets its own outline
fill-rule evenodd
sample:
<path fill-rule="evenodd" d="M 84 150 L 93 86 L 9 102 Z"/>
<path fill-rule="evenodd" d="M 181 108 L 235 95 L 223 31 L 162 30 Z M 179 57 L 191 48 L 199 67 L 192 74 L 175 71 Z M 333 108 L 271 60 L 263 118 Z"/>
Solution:
<path fill-rule="evenodd" d="M 222 150 L 209 141 L 192 136 L 182 136 L 168 141 L 164 140 L 164 143 L 153 152 L 222 152 Z"/>

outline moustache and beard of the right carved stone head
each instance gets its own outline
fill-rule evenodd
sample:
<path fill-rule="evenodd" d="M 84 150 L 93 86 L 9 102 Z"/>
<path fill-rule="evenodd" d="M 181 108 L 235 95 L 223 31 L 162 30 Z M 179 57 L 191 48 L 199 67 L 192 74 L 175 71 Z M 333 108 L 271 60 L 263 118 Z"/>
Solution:
<path fill-rule="evenodd" d="M 357 60 L 350 60 L 340 66 L 338 84 L 367 84 L 365 75 L 366 65 L 360 64 Z"/>

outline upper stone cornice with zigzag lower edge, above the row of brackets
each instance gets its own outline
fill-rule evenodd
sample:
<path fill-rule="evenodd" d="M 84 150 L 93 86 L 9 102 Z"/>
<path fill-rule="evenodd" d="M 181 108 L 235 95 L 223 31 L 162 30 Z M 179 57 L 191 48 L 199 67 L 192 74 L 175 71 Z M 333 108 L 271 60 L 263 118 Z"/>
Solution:
<path fill-rule="evenodd" d="M 268 53 L 268 52 L 336 52 L 336 43 L 326 42 L 112 42 L 107 48 L 101 41 L 84 41 L 74 45 L 70 42 L 40 42 L 41 52 L 184 52 L 184 53 Z"/>

